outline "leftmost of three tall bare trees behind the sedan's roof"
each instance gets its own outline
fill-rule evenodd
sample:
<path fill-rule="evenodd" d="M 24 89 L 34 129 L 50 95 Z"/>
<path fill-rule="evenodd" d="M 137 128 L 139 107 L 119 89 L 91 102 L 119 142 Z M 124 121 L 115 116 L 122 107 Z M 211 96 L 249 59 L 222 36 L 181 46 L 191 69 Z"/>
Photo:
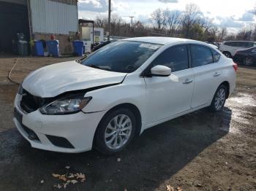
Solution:
<path fill-rule="evenodd" d="M 165 28 L 167 17 L 163 14 L 162 9 L 157 9 L 151 14 L 151 22 L 153 23 L 154 29 L 161 32 Z"/>

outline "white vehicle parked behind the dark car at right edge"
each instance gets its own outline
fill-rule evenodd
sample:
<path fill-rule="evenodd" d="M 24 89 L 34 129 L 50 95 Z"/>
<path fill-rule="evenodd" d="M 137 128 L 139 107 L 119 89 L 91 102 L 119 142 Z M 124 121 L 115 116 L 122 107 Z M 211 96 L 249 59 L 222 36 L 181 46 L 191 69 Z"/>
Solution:
<path fill-rule="evenodd" d="M 222 42 L 219 45 L 219 50 L 227 56 L 227 58 L 232 58 L 236 55 L 238 50 L 246 50 L 250 47 L 256 47 L 256 42 L 249 42 L 249 41 L 227 41 Z"/>

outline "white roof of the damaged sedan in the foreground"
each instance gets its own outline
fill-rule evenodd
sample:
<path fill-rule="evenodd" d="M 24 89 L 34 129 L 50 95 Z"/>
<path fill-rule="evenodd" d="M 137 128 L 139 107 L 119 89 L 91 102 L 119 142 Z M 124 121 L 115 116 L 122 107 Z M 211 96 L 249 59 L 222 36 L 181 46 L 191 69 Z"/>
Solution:
<path fill-rule="evenodd" d="M 197 44 L 206 44 L 205 42 L 195 41 L 191 39 L 181 39 L 181 38 L 173 38 L 173 37 L 162 37 L 162 36 L 146 36 L 146 37 L 135 37 L 129 39 L 122 39 L 125 41 L 135 41 L 135 42 L 146 42 L 146 43 L 153 43 L 153 44 L 170 44 L 173 42 L 194 42 Z"/>

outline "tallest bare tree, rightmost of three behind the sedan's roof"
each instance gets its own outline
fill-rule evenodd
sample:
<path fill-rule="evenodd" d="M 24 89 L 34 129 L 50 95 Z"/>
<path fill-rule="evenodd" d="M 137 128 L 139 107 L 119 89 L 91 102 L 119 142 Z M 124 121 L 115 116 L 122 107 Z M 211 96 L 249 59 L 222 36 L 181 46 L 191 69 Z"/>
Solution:
<path fill-rule="evenodd" d="M 195 23 L 199 23 L 200 21 L 200 9 L 196 4 L 187 4 L 186 10 L 182 17 L 182 27 L 184 31 L 184 36 L 187 38 L 191 38 L 192 34 L 190 31 Z"/>

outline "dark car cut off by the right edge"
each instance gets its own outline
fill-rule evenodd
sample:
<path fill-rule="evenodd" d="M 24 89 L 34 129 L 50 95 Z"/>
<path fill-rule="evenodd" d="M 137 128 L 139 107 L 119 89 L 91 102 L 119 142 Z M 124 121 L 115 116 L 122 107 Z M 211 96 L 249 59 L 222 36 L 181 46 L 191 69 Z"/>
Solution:
<path fill-rule="evenodd" d="M 256 66 L 256 47 L 238 50 L 233 57 L 233 61 L 244 66 Z"/>

